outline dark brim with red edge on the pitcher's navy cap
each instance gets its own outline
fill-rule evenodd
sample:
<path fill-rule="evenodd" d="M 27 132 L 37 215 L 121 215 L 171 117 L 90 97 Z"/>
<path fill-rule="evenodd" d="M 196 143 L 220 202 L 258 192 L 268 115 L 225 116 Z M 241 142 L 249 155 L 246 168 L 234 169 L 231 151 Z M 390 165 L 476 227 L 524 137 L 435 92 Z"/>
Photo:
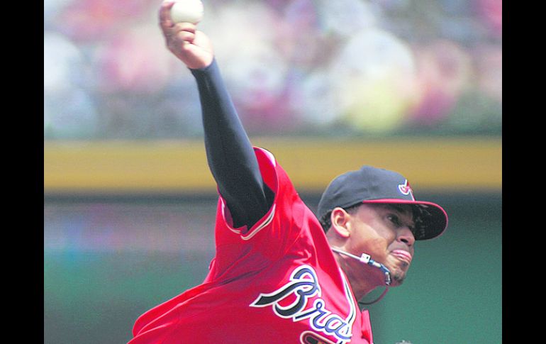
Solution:
<path fill-rule="evenodd" d="M 418 210 L 414 216 L 416 240 L 428 240 L 442 235 L 447 228 L 447 213 L 438 204 L 427 201 L 408 201 L 406 199 L 370 199 L 362 203 L 410 204 Z"/>

